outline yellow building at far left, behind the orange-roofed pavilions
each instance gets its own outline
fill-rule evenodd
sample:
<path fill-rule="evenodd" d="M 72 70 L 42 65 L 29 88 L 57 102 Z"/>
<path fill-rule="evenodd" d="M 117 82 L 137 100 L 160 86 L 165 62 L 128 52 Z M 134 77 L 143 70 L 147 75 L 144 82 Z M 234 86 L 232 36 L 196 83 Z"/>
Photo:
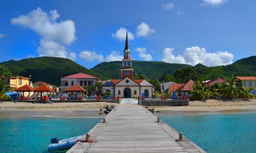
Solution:
<path fill-rule="evenodd" d="M 29 78 L 27 77 L 6 77 L 6 76 L 0 76 L 0 79 L 5 83 L 5 88 L 9 91 L 13 91 L 16 88 L 22 87 L 24 85 L 30 85 L 29 84 Z M 25 96 L 27 96 L 29 93 L 25 92 Z"/>

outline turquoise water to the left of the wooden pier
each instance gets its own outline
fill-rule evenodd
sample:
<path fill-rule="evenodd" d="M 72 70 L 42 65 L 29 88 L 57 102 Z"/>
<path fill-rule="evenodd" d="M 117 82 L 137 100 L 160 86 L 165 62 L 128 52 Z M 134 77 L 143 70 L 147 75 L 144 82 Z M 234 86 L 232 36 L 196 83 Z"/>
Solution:
<path fill-rule="evenodd" d="M 0 118 L 0 152 L 48 152 L 51 138 L 64 139 L 85 134 L 100 120 L 101 118 Z"/>

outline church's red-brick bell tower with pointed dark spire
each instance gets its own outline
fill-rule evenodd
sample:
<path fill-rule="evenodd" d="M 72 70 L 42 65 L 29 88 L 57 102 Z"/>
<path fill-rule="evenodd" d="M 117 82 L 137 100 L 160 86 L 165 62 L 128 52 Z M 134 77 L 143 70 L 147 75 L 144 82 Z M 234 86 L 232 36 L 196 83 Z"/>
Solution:
<path fill-rule="evenodd" d="M 132 59 L 131 59 L 131 51 L 129 49 L 128 44 L 128 35 L 126 31 L 126 40 L 125 40 L 125 48 L 123 50 L 123 59 L 122 59 L 123 67 L 121 69 L 122 80 L 125 78 L 133 79 L 133 69 L 132 69 Z"/>

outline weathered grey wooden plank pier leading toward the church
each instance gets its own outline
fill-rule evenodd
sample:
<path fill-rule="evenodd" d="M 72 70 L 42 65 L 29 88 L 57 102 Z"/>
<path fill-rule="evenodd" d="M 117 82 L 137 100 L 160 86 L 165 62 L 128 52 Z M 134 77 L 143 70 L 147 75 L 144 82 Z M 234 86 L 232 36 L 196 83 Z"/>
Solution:
<path fill-rule="evenodd" d="M 138 105 L 118 106 L 89 132 L 97 141 L 78 142 L 68 152 L 204 152 Z"/>

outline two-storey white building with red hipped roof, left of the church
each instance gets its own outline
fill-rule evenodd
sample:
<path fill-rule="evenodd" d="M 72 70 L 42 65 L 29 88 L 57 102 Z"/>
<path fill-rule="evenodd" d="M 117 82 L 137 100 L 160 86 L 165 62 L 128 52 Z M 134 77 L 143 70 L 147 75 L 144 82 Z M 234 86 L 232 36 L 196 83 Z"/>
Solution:
<path fill-rule="evenodd" d="M 77 73 L 72 74 L 67 77 L 61 78 L 60 80 L 60 89 L 61 93 L 65 93 L 65 89 L 73 86 L 94 86 L 96 82 L 98 82 L 100 79 L 98 77 L 94 77 L 92 75 L 84 74 L 84 73 Z M 87 95 L 90 94 L 87 91 Z"/>

